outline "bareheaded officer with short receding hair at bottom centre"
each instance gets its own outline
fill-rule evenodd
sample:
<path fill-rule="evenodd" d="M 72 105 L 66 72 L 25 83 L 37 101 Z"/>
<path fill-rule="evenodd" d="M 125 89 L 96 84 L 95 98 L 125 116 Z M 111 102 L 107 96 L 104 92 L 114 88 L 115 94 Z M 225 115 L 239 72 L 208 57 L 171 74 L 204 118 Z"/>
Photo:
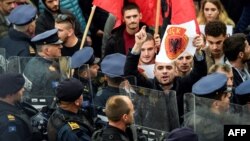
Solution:
<path fill-rule="evenodd" d="M 105 114 L 109 123 L 103 129 L 103 141 L 133 141 L 129 126 L 134 122 L 134 106 L 129 97 L 115 95 L 108 99 Z"/>

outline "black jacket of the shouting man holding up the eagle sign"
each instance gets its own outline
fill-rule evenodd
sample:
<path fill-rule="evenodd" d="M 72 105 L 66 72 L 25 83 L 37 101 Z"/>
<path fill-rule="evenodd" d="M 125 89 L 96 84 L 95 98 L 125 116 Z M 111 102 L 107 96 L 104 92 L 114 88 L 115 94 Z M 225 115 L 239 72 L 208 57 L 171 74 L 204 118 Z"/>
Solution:
<path fill-rule="evenodd" d="M 205 53 L 203 53 L 203 55 L 205 55 Z M 138 86 L 163 91 L 156 78 L 148 79 L 140 74 L 137 69 L 139 58 L 140 55 L 133 55 L 132 53 L 127 55 L 127 60 L 124 67 L 125 75 L 134 75 L 137 78 Z M 176 91 L 179 116 L 183 115 L 183 95 L 185 93 L 192 92 L 193 84 L 205 75 L 207 75 L 207 64 L 205 57 L 201 61 L 197 61 L 196 57 L 194 57 L 194 66 L 190 74 L 184 77 L 174 78 L 173 87 L 171 90 Z"/>

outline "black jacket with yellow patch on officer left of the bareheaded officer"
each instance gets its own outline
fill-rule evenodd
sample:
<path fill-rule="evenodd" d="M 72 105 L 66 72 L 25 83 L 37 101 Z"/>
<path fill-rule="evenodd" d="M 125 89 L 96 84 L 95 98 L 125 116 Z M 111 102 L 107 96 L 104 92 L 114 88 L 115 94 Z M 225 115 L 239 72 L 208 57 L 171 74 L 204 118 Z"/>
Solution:
<path fill-rule="evenodd" d="M 48 122 L 50 141 L 90 141 L 93 127 L 80 111 L 77 114 L 58 108 Z"/>

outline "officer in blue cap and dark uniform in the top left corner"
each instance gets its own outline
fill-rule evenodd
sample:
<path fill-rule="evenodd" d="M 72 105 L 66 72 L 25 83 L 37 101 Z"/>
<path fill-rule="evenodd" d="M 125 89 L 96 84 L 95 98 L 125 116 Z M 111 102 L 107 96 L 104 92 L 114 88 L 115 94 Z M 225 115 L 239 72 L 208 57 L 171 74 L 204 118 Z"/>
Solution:
<path fill-rule="evenodd" d="M 0 40 L 0 47 L 5 48 L 7 58 L 35 54 L 35 45 L 31 43 L 31 38 L 35 33 L 36 16 L 37 9 L 33 5 L 20 5 L 11 11 L 8 20 L 13 28 Z"/>

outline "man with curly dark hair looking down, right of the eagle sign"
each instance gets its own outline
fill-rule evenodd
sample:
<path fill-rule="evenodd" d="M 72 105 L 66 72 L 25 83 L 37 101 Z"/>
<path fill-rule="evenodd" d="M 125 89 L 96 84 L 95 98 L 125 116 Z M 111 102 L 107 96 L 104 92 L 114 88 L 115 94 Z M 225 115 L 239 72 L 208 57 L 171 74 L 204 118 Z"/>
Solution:
<path fill-rule="evenodd" d="M 227 37 L 227 27 L 221 21 L 211 21 L 205 26 L 205 37 L 208 47 L 205 49 L 207 68 L 213 64 L 226 62 L 223 52 L 223 42 Z"/>

